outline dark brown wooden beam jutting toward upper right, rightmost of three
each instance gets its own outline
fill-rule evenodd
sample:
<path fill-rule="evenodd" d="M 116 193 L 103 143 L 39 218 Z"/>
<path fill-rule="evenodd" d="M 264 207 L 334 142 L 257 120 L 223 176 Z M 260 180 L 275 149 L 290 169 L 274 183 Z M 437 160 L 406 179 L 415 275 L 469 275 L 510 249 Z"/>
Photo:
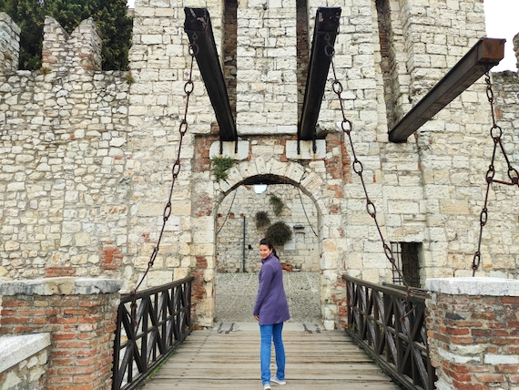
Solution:
<path fill-rule="evenodd" d="M 504 57 L 505 39 L 481 38 L 425 97 L 389 132 L 392 142 L 405 142 L 425 122 L 458 97 Z"/>

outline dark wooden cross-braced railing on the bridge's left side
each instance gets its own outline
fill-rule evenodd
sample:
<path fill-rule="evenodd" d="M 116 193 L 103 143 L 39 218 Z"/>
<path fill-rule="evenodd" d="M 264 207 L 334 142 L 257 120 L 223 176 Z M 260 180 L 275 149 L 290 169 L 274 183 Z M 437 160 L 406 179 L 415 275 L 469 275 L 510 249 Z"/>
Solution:
<path fill-rule="evenodd" d="M 112 390 L 141 384 L 191 333 L 191 282 L 188 277 L 125 294 L 117 312 Z M 137 303 L 131 316 L 131 304 Z"/>

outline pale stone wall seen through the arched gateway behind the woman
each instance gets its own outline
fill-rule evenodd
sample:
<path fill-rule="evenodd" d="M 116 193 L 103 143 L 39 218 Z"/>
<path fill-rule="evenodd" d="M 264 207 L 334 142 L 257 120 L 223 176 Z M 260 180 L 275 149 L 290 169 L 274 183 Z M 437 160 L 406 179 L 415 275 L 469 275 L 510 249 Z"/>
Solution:
<path fill-rule="evenodd" d="M 307 195 L 291 186 L 276 184 L 256 193 L 254 186 L 241 186 L 230 193 L 219 205 L 217 220 L 217 271 L 260 272 L 260 240 L 267 227 L 256 227 L 256 213 L 268 212 L 271 223 L 284 221 L 292 231 L 292 239 L 283 247 L 277 247 L 280 261 L 291 266 L 292 271 L 320 272 L 319 241 L 316 237 L 318 222 L 315 205 Z M 275 195 L 285 207 L 276 216 L 270 204 Z M 233 201 L 234 200 L 234 201 Z M 304 206 L 301 206 L 301 200 Z M 303 209 L 304 207 L 304 209 Z M 305 211 L 308 216 L 305 216 Z M 245 258 L 243 257 L 243 224 L 245 217 Z M 312 230 L 313 229 L 313 230 Z M 315 232 L 314 232 L 315 231 Z"/>

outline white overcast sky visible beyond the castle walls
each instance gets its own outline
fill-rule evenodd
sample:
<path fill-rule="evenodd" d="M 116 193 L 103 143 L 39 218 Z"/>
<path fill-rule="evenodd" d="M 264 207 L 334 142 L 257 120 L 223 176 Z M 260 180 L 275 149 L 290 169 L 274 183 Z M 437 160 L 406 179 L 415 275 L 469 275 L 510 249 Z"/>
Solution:
<path fill-rule="evenodd" d="M 128 6 L 133 8 L 135 0 L 128 0 Z M 514 55 L 514 36 L 519 34 L 519 0 L 484 0 L 486 18 L 486 36 L 504 38 L 504 59 L 493 72 L 517 70 L 517 60 Z"/>

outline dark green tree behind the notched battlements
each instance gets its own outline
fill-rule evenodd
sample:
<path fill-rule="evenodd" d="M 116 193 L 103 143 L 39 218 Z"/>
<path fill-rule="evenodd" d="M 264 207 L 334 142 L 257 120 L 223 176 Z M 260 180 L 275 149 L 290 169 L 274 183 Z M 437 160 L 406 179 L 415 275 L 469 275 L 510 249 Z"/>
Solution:
<path fill-rule="evenodd" d="M 103 40 L 103 69 L 128 67 L 133 20 L 127 17 L 126 0 L 2 0 L 1 11 L 21 28 L 21 69 L 41 67 L 46 15 L 54 17 L 69 34 L 82 20 L 93 17 Z"/>

